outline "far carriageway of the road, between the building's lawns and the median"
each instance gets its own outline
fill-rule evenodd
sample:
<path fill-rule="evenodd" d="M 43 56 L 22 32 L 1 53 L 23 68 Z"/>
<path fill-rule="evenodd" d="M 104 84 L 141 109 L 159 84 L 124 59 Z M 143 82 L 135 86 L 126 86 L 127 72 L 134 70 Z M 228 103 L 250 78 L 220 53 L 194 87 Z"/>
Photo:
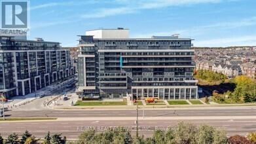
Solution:
<path fill-rule="evenodd" d="M 139 110 L 139 116 L 142 116 Z M 166 108 L 145 109 L 146 117 L 208 117 L 208 116 L 255 116 L 255 106 L 244 107 L 204 107 L 201 108 Z M 6 117 L 136 117 L 136 110 L 41 110 L 41 111 L 7 111 Z"/>

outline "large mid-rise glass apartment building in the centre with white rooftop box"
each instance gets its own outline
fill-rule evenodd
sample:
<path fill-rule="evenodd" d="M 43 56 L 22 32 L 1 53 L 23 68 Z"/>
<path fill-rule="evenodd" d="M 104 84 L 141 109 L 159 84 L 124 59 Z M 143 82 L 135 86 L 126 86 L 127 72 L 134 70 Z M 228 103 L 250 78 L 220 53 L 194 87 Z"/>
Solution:
<path fill-rule="evenodd" d="M 192 39 L 129 38 L 129 29 L 79 35 L 80 97 L 196 99 Z"/>

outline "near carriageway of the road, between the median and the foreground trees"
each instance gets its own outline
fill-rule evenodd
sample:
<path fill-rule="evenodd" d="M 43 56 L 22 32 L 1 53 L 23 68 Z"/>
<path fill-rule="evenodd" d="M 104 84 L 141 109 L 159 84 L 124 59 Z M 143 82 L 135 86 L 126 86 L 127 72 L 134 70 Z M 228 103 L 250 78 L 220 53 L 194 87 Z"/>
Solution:
<path fill-rule="evenodd" d="M 139 120 L 139 134 L 146 137 L 153 134 L 153 130 L 166 129 L 177 124 L 179 120 Z M 183 120 L 192 122 L 196 125 L 208 123 L 214 127 L 225 127 L 228 135 L 240 134 L 246 135 L 248 132 L 255 132 L 255 119 L 219 119 L 219 120 Z M 33 122 L 0 122 L 0 133 L 3 137 L 16 133 L 22 135 L 25 130 L 31 132 L 36 137 L 43 138 L 49 131 L 52 134 L 63 134 L 68 139 L 77 139 L 78 135 L 85 130 L 95 129 L 97 132 L 103 132 L 107 128 L 125 126 L 132 134 L 136 133 L 134 120 L 71 120 L 71 121 L 33 121 Z"/>

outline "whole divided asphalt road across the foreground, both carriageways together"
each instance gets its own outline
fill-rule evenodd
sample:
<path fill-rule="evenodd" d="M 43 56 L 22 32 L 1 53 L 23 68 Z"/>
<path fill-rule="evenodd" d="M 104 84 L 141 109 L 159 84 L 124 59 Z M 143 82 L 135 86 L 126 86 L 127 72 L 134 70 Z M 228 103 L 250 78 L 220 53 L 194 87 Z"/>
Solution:
<path fill-rule="evenodd" d="M 40 109 L 42 105 L 39 104 L 44 99 L 35 101 L 33 105 L 38 105 L 38 109 Z M 29 106 L 31 106 L 30 110 Z M 207 123 L 214 127 L 224 127 L 228 135 L 246 135 L 248 132 L 256 131 L 255 106 L 162 108 L 145 109 L 144 112 L 146 118 L 139 120 L 139 134 L 146 137 L 152 135 L 156 128 L 166 129 L 179 121 L 192 122 L 196 125 Z M 142 113 L 142 109 L 139 109 L 139 117 L 142 117 Z M 59 120 L 0 121 L 0 134 L 3 137 L 14 132 L 22 135 L 25 130 L 28 130 L 40 138 L 43 138 L 49 131 L 52 134 L 63 134 L 68 139 L 77 139 L 81 132 L 88 129 L 103 132 L 107 128 L 117 126 L 126 126 L 132 131 L 132 134 L 136 133 L 135 109 L 56 110 L 45 107 L 45 109 L 34 110 L 31 104 L 20 107 L 20 109 L 7 111 L 5 115 L 7 118 L 56 117 Z"/>

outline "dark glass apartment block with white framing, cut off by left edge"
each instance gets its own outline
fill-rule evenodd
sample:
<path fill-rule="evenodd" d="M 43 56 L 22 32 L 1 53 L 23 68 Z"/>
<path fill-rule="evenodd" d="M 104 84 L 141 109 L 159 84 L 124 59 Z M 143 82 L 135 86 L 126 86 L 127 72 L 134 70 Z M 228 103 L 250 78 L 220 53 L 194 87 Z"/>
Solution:
<path fill-rule="evenodd" d="M 0 36 L 0 92 L 6 98 L 35 92 L 74 71 L 69 50 L 60 43 Z"/>

